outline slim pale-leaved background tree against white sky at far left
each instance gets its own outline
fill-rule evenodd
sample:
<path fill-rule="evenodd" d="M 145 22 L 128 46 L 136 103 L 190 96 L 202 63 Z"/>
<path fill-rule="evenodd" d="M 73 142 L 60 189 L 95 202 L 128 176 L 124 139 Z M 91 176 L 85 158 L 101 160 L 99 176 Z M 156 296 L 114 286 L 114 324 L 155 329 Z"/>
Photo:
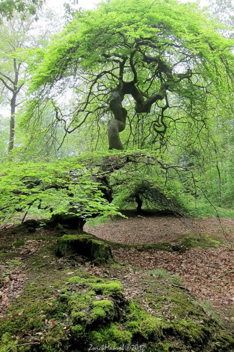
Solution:
<path fill-rule="evenodd" d="M 43 26 L 39 23 L 35 25 L 35 16 L 25 15 L 22 18 L 19 14 L 8 21 L 4 20 L 0 26 L 0 86 L 4 96 L 1 105 L 10 105 L 8 152 L 14 147 L 16 108 L 25 100 L 22 88 L 29 81 L 25 70 L 30 56 L 27 50 L 46 45 L 51 35 L 54 22 L 51 21 L 51 12 L 44 13 L 44 16 Z"/>

